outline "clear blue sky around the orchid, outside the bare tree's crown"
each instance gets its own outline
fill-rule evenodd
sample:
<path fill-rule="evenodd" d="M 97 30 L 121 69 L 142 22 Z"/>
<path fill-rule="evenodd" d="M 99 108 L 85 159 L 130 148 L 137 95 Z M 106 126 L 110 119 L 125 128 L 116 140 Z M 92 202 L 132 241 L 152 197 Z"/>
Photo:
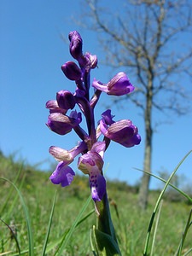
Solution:
<path fill-rule="evenodd" d="M 61 65 L 72 60 L 61 35 L 67 38 L 68 32 L 78 30 L 84 40 L 84 51 L 96 54 L 98 60 L 103 57 L 96 34 L 72 21 L 73 16 L 81 15 L 80 3 L 79 0 L 0 2 L 0 149 L 6 155 L 18 151 L 19 158 L 32 165 L 41 163 L 41 169 L 49 169 L 49 164 L 55 162 L 48 153 L 49 146 L 70 149 L 78 141 L 75 133 L 61 137 L 45 125 L 49 114 L 45 102 L 55 99 L 58 90 L 75 90 L 73 82 L 61 72 Z M 108 82 L 115 73 L 99 65 L 91 75 Z M 110 99 L 102 96 L 96 109 L 97 118 L 105 110 L 106 102 L 110 103 Z M 137 109 L 112 106 L 112 113 L 115 120 L 131 119 L 144 138 L 143 119 Z M 172 125 L 159 127 L 154 134 L 154 173 L 160 169 L 172 172 L 192 149 L 191 128 L 191 113 L 179 118 L 173 116 Z M 136 183 L 142 176 L 134 167 L 143 169 L 143 142 L 134 148 L 111 143 L 105 154 L 107 177 Z M 184 174 L 188 182 L 192 182 L 191 166 L 192 155 L 177 173 Z M 77 171 L 75 163 L 73 169 Z M 156 186 L 160 183 L 152 178 L 151 187 Z"/>

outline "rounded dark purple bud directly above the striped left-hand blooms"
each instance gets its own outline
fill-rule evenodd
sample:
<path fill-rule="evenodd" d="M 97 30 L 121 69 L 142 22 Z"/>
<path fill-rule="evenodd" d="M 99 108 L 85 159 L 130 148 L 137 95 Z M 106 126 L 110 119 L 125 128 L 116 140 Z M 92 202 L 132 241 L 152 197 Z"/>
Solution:
<path fill-rule="evenodd" d="M 75 106 L 75 97 L 69 90 L 60 90 L 56 94 L 56 101 L 59 108 L 73 109 Z"/>

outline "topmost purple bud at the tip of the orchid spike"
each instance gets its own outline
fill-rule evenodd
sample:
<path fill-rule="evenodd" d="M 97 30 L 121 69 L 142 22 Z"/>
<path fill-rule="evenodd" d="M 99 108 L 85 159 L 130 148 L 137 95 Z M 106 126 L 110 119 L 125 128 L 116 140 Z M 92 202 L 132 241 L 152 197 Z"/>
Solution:
<path fill-rule="evenodd" d="M 82 53 L 83 40 L 79 35 L 79 32 L 77 31 L 69 32 L 68 38 L 70 40 L 70 46 L 69 46 L 70 53 L 74 59 L 79 60 L 79 58 L 83 54 Z"/>

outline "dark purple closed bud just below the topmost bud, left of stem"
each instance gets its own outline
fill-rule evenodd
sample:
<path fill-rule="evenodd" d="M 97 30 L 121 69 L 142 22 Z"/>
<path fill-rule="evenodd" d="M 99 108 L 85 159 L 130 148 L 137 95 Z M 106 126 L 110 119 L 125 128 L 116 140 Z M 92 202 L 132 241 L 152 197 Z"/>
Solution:
<path fill-rule="evenodd" d="M 81 70 L 73 61 L 67 61 L 61 66 L 61 70 L 69 80 L 77 81 L 81 79 Z"/>

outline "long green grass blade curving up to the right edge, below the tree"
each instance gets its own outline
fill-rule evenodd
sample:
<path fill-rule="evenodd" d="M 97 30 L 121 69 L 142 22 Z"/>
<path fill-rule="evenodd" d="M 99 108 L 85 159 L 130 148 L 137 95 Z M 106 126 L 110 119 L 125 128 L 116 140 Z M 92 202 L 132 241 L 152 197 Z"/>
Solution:
<path fill-rule="evenodd" d="M 158 200 L 156 201 L 156 204 L 155 204 L 155 207 L 154 207 L 154 211 L 152 213 L 152 216 L 151 216 L 151 219 L 150 219 L 150 222 L 148 224 L 148 234 L 147 234 L 147 237 L 146 237 L 146 241 L 145 241 L 145 247 L 144 247 L 144 253 L 143 253 L 143 256 L 147 256 L 148 255 L 148 243 L 149 243 L 149 238 L 150 238 L 150 234 L 151 234 L 151 230 L 152 230 L 152 226 L 154 224 L 154 217 L 155 217 L 155 214 L 157 212 L 157 209 L 160 205 L 160 201 L 164 195 L 164 193 L 166 192 L 166 188 L 168 187 L 172 177 L 175 175 L 175 173 L 177 172 L 178 168 L 182 165 L 183 161 L 189 156 L 189 154 L 191 154 L 192 150 L 189 151 L 188 154 L 186 154 L 183 159 L 178 163 L 178 165 L 176 166 L 176 168 L 174 169 L 174 171 L 172 172 L 172 174 L 170 175 L 170 177 L 168 178 L 168 180 L 166 181 L 166 184 L 164 186 L 164 188 L 162 189 L 162 191 L 160 192 L 160 195 L 159 195 L 159 198 Z"/>

